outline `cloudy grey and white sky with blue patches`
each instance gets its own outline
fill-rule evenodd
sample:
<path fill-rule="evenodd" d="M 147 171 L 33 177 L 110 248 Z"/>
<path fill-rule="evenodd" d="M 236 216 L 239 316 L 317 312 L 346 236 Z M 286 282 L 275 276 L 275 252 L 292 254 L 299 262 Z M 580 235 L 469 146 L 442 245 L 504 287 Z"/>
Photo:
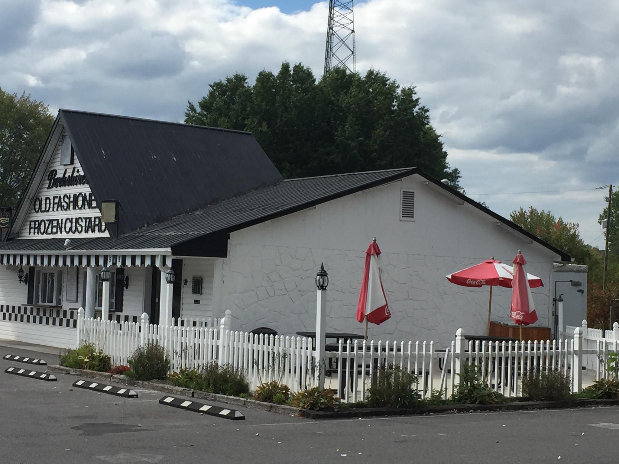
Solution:
<path fill-rule="evenodd" d="M 619 184 L 619 3 L 355 2 L 357 67 L 417 85 L 477 200 L 535 205 L 603 245 Z M 319 76 L 327 2 L 0 0 L 0 87 L 58 108 L 180 121 L 236 71 L 282 61 Z M 526 192 L 505 195 L 505 192 Z"/>

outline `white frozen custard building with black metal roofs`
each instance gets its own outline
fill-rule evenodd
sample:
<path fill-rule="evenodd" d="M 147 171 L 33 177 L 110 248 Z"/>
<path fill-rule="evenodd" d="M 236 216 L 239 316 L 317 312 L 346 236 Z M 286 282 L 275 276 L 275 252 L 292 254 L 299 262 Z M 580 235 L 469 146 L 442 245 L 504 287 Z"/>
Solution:
<path fill-rule="evenodd" d="M 30 343 L 71 346 L 80 306 L 87 317 L 147 312 L 155 323 L 230 309 L 235 330 L 313 330 L 321 262 L 327 330 L 361 333 L 355 312 L 374 236 L 392 313 L 370 328 L 374 339 L 446 345 L 459 327 L 485 335 L 487 288 L 445 275 L 490 256 L 511 264 L 519 249 L 544 282 L 533 290 L 537 324 L 556 333 L 560 293 L 570 301 L 561 324 L 586 311 L 586 269 L 422 171 L 285 181 L 246 132 L 61 110 L 10 216 L 0 338 Z M 494 291 L 493 320 L 508 320 L 510 295 Z"/>

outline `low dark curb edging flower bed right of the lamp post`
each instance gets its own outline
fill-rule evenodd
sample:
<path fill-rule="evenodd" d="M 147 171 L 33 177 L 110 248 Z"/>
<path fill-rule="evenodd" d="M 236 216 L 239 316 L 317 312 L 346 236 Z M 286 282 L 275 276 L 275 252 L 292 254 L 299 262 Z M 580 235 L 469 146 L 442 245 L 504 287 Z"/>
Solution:
<path fill-rule="evenodd" d="M 574 409 L 588 406 L 619 405 L 617 400 L 522 401 L 498 405 L 441 405 L 423 408 L 350 408 L 343 411 L 303 411 L 308 419 L 345 419 L 380 416 L 419 416 L 441 413 L 470 413 L 482 411 L 524 411 L 539 409 Z"/>

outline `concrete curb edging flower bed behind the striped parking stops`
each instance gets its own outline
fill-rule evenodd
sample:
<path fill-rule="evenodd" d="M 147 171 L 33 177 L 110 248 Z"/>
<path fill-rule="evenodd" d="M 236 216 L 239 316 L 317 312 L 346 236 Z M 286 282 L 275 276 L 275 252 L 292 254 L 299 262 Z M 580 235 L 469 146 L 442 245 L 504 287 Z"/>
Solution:
<path fill-rule="evenodd" d="M 275 405 L 273 403 L 263 403 L 261 401 L 249 400 L 248 398 L 228 397 L 227 395 L 218 395 L 217 393 L 184 389 L 183 387 L 162 384 L 157 382 L 157 380 L 134 380 L 127 376 L 115 376 L 108 374 L 107 372 L 86 371 L 85 369 L 71 369 L 69 367 L 54 365 L 47 366 L 47 371 L 71 374 L 72 376 L 88 377 L 90 379 L 109 380 L 110 382 L 115 382 L 116 384 L 141 387 L 144 389 L 155 390 L 156 392 L 171 393 L 172 395 L 179 395 L 181 397 L 199 398 L 201 400 L 210 400 L 228 405 L 243 406 L 245 408 L 269 411 L 271 413 L 284 414 L 288 416 L 300 416 L 304 412 L 298 408 L 293 408 L 288 405 Z"/>

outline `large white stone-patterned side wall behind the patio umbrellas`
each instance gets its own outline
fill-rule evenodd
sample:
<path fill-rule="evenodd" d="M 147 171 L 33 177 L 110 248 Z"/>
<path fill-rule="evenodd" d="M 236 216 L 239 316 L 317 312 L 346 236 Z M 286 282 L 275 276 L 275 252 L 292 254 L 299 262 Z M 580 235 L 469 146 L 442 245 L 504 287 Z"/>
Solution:
<path fill-rule="evenodd" d="M 415 189 L 414 221 L 399 220 L 402 188 Z M 453 285 L 445 275 L 491 256 L 511 264 L 518 249 L 527 271 L 544 282 L 532 293 L 537 325 L 548 325 L 553 260 L 559 257 L 436 188 L 411 176 L 232 233 L 220 312 L 231 309 L 233 329 L 314 330 L 314 277 L 324 262 L 327 330 L 363 333 L 355 314 L 365 249 L 376 236 L 392 317 L 370 325 L 374 340 L 435 340 L 445 346 L 459 327 L 485 335 L 488 288 Z M 492 319 L 508 320 L 511 292 L 493 293 Z"/>

